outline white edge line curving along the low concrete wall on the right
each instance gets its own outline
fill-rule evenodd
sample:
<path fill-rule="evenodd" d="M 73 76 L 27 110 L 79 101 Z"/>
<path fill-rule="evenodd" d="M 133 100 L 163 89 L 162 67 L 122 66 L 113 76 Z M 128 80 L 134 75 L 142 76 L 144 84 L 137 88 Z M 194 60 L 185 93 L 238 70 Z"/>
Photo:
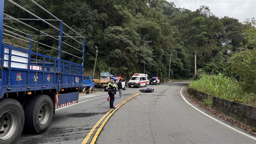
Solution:
<path fill-rule="evenodd" d="M 186 86 L 186 85 L 185 85 L 185 86 Z M 256 140 L 255 137 L 253 137 L 253 136 L 251 136 L 251 135 L 249 135 L 249 134 L 247 134 L 247 133 L 244 133 L 244 132 L 242 132 L 242 131 L 239 131 L 239 130 L 233 128 L 232 126 L 229 126 L 228 124 L 224 124 L 223 122 L 217 120 L 216 118 L 214 118 L 214 117 L 212 117 L 212 116 L 207 115 L 206 113 L 204 113 L 204 112 L 201 111 L 200 109 L 198 109 L 198 108 L 196 108 L 195 106 L 193 106 L 192 104 L 190 104 L 190 103 L 184 98 L 184 96 L 182 95 L 182 89 L 183 89 L 185 86 L 183 86 L 183 87 L 181 88 L 181 90 L 180 90 L 180 95 L 181 95 L 181 97 L 183 98 L 183 100 L 185 100 L 192 108 L 195 108 L 197 111 L 199 111 L 200 113 L 204 114 L 205 116 L 207 116 L 207 117 L 213 119 L 214 121 L 216 121 L 216 122 L 218 122 L 218 123 L 220 123 L 220 124 L 223 124 L 223 125 L 227 126 L 228 128 L 230 128 L 230 129 L 232 129 L 232 130 L 234 130 L 234 131 L 236 131 L 236 132 L 239 132 L 239 133 L 241 133 L 241 134 L 243 134 L 243 135 L 245 135 L 245 136 L 247 136 L 247 137 L 249 137 L 249 138 L 251 138 L 251 139 L 253 139 L 253 140 Z"/>

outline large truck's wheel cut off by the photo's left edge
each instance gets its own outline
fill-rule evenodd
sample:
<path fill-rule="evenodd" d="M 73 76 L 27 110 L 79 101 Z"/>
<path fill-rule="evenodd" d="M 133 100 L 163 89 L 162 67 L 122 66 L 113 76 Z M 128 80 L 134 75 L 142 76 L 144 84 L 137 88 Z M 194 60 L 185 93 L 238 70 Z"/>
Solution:
<path fill-rule="evenodd" d="M 24 125 L 24 111 L 14 99 L 0 100 L 0 143 L 15 143 Z"/>

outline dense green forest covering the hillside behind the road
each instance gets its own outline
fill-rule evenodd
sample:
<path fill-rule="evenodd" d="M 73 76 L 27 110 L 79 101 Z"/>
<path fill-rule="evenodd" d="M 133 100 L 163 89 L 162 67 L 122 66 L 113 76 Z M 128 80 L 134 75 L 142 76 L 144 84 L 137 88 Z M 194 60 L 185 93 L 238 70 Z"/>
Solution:
<path fill-rule="evenodd" d="M 49 14 L 28 0 L 14 1 L 44 19 L 52 19 Z M 228 16 L 219 18 L 207 6 L 200 6 L 192 12 L 185 8 L 177 8 L 175 3 L 165 0 L 35 1 L 86 37 L 85 75 L 92 75 L 96 56 L 95 46 L 99 48 L 96 76 L 99 76 L 101 71 L 108 71 L 127 79 L 133 73 L 143 73 L 144 63 L 148 75 L 158 74 L 167 77 L 170 54 L 170 76 L 175 79 L 194 76 L 195 52 L 199 74 L 202 71 L 209 74 L 226 72 L 238 78 L 244 73 L 245 68 L 239 60 L 243 59 L 244 55 L 252 55 L 255 58 L 252 54 L 255 54 L 253 49 L 256 47 L 254 18 L 241 23 L 236 18 Z M 8 1 L 5 2 L 4 12 L 15 18 L 35 18 Z M 48 34 L 58 34 L 58 31 L 41 21 L 24 22 Z M 38 34 L 37 31 L 11 20 L 4 20 L 4 23 L 28 34 Z M 51 23 L 58 26 L 57 22 Z M 64 31 L 76 36 L 68 28 L 64 27 Z M 145 41 L 152 41 L 146 43 L 146 49 L 143 37 Z M 15 42 L 7 36 L 4 39 Z M 37 36 L 34 36 L 34 39 L 37 40 Z M 39 39 L 44 44 L 58 45 L 47 37 Z M 68 38 L 63 40 L 72 41 Z M 78 44 L 76 46 L 79 47 Z M 33 44 L 33 50 L 36 50 L 36 43 Z M 56 57 L 55 50 L 50 48 L 40 46 L 38 51 Z M 74 50 L 66 48 L 66 51 L 78 55 Z M 65 54 L 62 58 L 72 60 L 72 57 Z M 236 61 L 236 65 L 231 60 Z M 255 65 L 252 67 L 255 68 Z M 255 73 L 252 70 L 253 72 Z M 255 77 L 255 74 L 250 75 Z"/>

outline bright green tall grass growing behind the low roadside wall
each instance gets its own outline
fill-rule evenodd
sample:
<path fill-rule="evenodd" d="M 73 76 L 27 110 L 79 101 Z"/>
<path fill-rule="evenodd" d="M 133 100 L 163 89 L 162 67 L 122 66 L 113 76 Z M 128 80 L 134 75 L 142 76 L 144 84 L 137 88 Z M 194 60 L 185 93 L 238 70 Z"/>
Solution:
<path fill-rule="evenodd" d="M 196 90 L 206 91 L 213 96 L 226 100 L 238 98 L 240 102 L 251 105 L 256 104 L 255 94 L 243 92 L 235 78 L 227 77 L 223 73 L 218 75 L 201 75 L 198 80 L 193 81 L 189 85 Z"/>

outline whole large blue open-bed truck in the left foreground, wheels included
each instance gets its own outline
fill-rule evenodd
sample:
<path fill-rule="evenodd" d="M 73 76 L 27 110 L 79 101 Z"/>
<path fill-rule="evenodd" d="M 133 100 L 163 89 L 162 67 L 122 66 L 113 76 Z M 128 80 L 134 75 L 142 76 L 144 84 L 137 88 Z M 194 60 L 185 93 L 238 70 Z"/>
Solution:
<path fill-rule="evenodd" d="M 13 4 L 28 12 L 36 19 L 18 19 L 4 13 L 4 4 Z M 21 132 L 27 129 L 32 133 L 43 133 L 50 126 L 55 109 L 78 102 L 78 93 L 83 86 L 85 37 L 52 15 L 42 6 L 31 0 L 38 8 L 50 14 L 59 27 L 40 16 L 28 11 L 12 0 L 0 0 L 0 143 L 14 143 Z M 41 35 L 27 34 L 7 25 L 4 20 L 13 20 L 24 28 L 28 27 Z M 52 36 L 27 24 L 29 20 L 40 20 L 55 29 Z M 72 31 L 76 36 L 69 36 L 62 28 Z M 47 45 L 36 40 L 39 36 L 47 36 L 55 40 L 55 44 Z M 63 39 L 65 37 L 65 39 Z M 70 39 L 67 43 L 64 40 Z M 19 46 L 13 41 L 19 40 L 27 46 Z M 6 41 L 9 40 L 9 41 Z M 34 43 L 34 44 L 33 44 Z M 32 45 L 36 51 L 32 51 Z M 56 57 L 37 52 L 38 45 L 56 52 Z M 65 45 L 65 46 L 64 46 Z M 74 46 L 76 45 L 76 47 Z M 41 48 L 42 48 L 41 47 Z M 72 49 L 79 54 L 70 54 Z M 66 48 L 66 50 L 64 49 Z M 62 59 L 62 55 L 76 59 L 70 62 Z"/>

